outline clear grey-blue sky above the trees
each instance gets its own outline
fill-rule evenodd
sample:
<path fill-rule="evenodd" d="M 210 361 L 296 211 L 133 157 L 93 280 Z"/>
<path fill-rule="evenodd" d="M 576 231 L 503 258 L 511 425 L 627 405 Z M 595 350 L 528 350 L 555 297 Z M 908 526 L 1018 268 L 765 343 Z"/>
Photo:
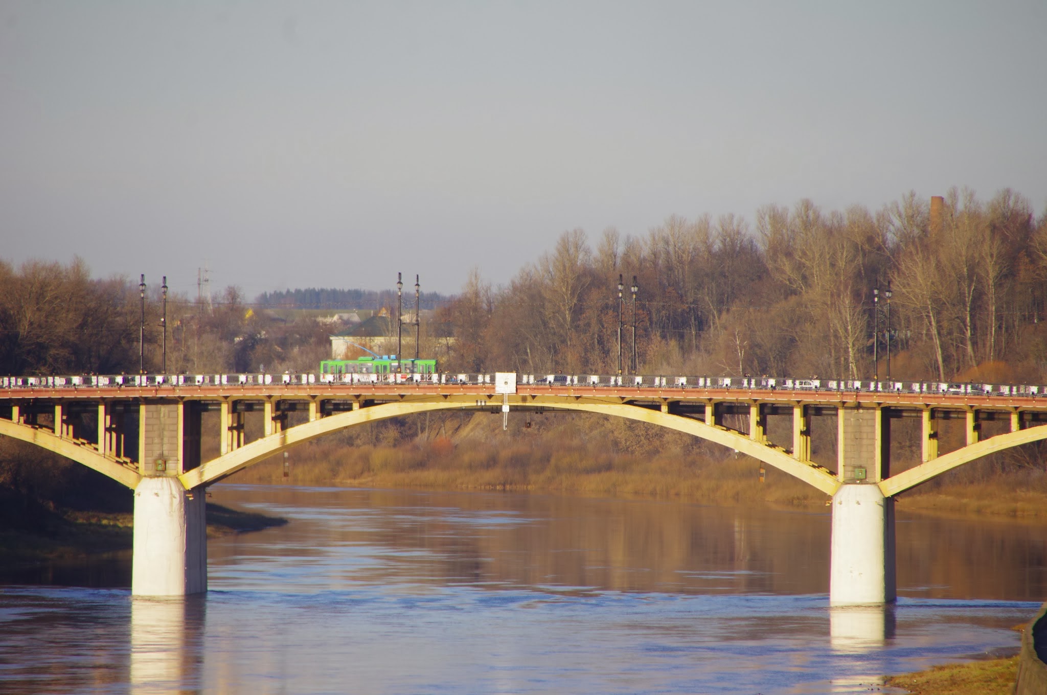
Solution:
<path fill-rule="evenodd" d="M 580 227 L 1003 187 L 1047 3 L 0 0 L 0 257 L 494 286 Z"/>

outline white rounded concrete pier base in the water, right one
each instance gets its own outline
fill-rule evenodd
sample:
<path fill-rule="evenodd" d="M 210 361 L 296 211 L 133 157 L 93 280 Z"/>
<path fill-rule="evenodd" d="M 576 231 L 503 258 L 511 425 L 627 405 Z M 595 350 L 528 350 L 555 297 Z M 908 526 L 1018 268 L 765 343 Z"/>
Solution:
<path fill-rule="evenodd" d="M 829 605 L 893 603 L 894 499 L 875 485 L 840 486 L 830 552 Z"/>

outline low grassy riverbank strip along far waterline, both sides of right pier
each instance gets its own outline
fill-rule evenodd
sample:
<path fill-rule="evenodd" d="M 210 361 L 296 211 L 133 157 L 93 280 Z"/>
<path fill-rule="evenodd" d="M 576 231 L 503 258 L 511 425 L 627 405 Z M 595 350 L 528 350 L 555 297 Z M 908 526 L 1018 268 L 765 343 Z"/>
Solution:
<path fill-rule="evenodd" d="M 686 446 L 686 445 L 685 445 Z M 701 503 L 822 507 L 827 497 L 744 455 L 701 447 L 622 451 L 584 438 L 399 445 L 315 442 L 240 471 L 232 483 L 650 497 Z M 934 514 L 1047 519 L 1047 474 L 986 474 L 972 464 L 898 496 L 899 509 Z M 763 479 L 761 481 L 761 468 Z M 286 474 L 286 475 L 285 475 Z"/>

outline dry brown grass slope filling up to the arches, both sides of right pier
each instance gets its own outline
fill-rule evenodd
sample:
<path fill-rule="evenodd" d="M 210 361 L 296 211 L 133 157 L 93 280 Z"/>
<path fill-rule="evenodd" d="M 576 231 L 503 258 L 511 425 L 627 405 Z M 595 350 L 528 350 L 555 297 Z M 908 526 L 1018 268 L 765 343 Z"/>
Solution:
<path fill-rule="evenodd" d="M 500 414 L 500 413 L 499 413 Z M 295 485 L 535 490 L 718 503 L 764 500 L 821 506 L 825 496 L 778 470 L 678 432 L 597 416 L 453 414 L 362 426 L 290 452 Z M 283 459 L 231 481 L 284 483 Z M 936 514 L 1047 516 L 1047 474 L 971 464 L 901 496 L 903 510 Z"/>

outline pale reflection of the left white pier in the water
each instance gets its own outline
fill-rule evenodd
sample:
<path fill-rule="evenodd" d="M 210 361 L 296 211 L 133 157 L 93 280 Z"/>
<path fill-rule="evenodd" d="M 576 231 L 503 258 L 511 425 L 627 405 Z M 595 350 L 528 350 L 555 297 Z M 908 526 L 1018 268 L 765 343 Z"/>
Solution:
<path fill-rule="evenodd" d="M 132 599 L 133 695 L 199 692 L 204 606 L 203 597 Z"/>

